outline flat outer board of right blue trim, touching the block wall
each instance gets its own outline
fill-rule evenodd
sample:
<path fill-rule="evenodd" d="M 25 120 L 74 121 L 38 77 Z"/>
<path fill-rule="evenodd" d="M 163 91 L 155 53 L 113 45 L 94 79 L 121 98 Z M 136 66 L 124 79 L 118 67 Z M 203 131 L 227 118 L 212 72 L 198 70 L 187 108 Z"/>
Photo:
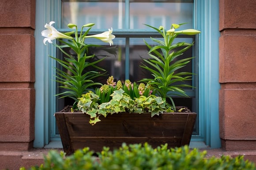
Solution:
<path fill-rule="evenodd" d="M 220 32 L 218 31 L 218 23 L 219 23 L 219 10 L 218 10 L 218 0 L 216 1 L 210 1 L 208 6 L 209 8 L 209 14 L 210 14 L 210 19 L 211 23 L 209 23 L 211 26 L 211 29 L 209 31 L 209 47 L 210 47 L 210 56 L 211 60 L 209 63 L 209 67 L 211 69 L 210 71 L 210 76 L 209 79 L 210 81 L 210 87 L 209 91 L 211 91 L 211 96 L 209 97 L 209 103 L 210 103 L 210 136 L 211 138 L 209 139 L 209 143 L 212 148 L 218 148 L 221 147 L 221 141 L 219 137 L 219 105 L 218 105 L 218 99 L 219 99 L 219 89 L 220 89 L 220 84 L 219 84 L 219 67 L 218 67 L 218 62 L 219 62 L 219 51 L 218 51 L 218 39 L 220 36 Z"/>

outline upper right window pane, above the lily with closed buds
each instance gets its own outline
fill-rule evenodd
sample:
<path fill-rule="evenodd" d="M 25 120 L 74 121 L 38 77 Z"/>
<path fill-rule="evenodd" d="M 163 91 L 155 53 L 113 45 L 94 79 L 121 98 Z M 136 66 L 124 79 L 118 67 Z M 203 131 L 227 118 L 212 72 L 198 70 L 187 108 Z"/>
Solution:
<path fill-rule="evenodd" d="M 183 29 L 192 28 L 193 3 L 163 3 L 153 0 L 147 3 L 130 4 L 130 29 L 145 29 L 143 24 L 169 28 L 171 24 L 181 24 Z"/>

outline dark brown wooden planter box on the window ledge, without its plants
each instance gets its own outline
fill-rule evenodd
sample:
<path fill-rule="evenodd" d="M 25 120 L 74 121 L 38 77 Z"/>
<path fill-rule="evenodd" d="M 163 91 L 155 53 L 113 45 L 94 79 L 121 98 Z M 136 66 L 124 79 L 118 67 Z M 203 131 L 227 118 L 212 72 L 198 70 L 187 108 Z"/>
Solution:
<path fill-rule="evenodd" d="M 92 126 L 90 116 L 80 112 L 56 112 L 56 123 L 67 155 L 89 147 L 94 152 L 126 144 L 149 143 L 152 147 L 167 143 L 169 147 L 189 145 L 196 113 L 118 113 L 102 117 Z"/>

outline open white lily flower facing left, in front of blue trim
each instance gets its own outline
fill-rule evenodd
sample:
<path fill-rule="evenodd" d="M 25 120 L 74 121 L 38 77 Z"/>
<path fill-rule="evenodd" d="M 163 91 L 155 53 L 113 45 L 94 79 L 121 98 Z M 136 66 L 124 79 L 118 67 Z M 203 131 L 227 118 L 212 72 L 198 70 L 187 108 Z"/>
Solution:
<path fill-rule="evenodd" d="M 52 24 L 54 24 L 54 23 L 55 23 L 54 21 L 51 21 L 49 24 L 46 23 L 45 24 L 46 29 L 41 32 L 41 35 L 46 37 L 43 41 L 45 45 L 46 45 L 46 41 L 48 41 L 49 43 L 53 43 L 52 40 L 59 39 L 59 38 L 72 39 L 71 36 L 67 36 L 67 35 L 57 31 L 52 26 Z"/>

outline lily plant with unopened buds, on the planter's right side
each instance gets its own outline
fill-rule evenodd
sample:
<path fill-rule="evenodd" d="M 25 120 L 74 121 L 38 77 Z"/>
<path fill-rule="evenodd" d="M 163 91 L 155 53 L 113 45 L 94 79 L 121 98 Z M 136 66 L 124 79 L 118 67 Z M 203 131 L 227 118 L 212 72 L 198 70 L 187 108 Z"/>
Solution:
<path fill-rule="evenodd" d="M 171 95 L 175 94 L 188 97 L 182 88 L 192 87 L 184 84 L 184 81 L 191 80 L 192 73 L 177 71 L 191 61 L 192 58 L 178 58 L 184 53 L 184 51 L 188 50 L 188 48 L 193 45 L 193 43 L 185 42 L 173 44 L 173 41 L 179 34 L 195 35 L 200 33 L 200 31 L 194 29 L 175 31 L 175 29 L 179 28 L 180 25 L 172 24 L 171 29 L 167 31 L 162 26 L 157 29 L 151 25 L 147 25 L 158 31 L 164 40 L 161 41 L 151 37 L 151 40 L 158 44 L 153 47 L 144 40 L 144 43 L 150 49 L 148 52 L 150 58 L 143 58 L 145 64 L 140 65 L 143 69 L 151 72 L 151 75 L 154 77 L 152 79 L 145 78 L 141 81 L 150 84 L 156 90 L 158 96 L 162 97 L 164 100 L 169 98 L 173 107 L 175 107 L 175 104 Z"/>

